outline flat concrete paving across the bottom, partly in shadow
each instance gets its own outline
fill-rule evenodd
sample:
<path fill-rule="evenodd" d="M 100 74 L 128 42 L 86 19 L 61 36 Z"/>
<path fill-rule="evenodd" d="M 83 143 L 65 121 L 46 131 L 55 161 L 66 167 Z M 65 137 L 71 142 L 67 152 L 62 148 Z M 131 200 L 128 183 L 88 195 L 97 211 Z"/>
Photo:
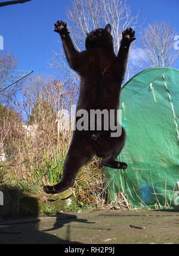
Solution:
<path fill-rule="evenodd" d="M 109 211 L 1 221 L 0 244 L 179 243 L 179 212 Z"/>

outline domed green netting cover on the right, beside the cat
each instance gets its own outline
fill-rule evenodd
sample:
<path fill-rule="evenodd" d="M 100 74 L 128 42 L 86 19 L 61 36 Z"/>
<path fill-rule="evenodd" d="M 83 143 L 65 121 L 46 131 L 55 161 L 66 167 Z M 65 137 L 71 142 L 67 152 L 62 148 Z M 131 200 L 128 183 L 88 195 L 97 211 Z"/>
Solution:
<path fill-rule="evenodd" d="M 128 169 L 105 167 L 112 199 L 124 193 L 131 205 L 177 207 L 179 193 L 179 71 L 147 69 L 121 92 L 126 144 L 118 157 Z"/>

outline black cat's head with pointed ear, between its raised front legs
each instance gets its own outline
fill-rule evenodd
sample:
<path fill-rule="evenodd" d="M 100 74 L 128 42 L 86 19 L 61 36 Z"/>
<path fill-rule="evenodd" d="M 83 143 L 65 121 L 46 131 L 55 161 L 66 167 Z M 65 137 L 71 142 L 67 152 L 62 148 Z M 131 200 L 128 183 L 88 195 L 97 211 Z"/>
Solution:
<path fill-rule="evenodd" d="M 113 37 L 111 35 L 111 26 L 108 24 L 105 29 L 96 29 L 87 33 L 86 48 L 109 48 L 113 50 Z"/>

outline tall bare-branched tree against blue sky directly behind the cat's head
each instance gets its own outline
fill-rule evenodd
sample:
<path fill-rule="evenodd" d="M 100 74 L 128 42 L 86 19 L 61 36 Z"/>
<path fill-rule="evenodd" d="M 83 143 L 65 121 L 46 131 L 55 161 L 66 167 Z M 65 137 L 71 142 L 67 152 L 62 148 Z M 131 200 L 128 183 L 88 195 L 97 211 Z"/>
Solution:
<path fill-rule="evenodd" d="M 115 53 L 118 54 L 122 31 L 129 26 L 135 28 L 138 14 L 131 15 L 131 9 L 125 0 L 73 0 L 72 8 L 68 10 L 68 28 L 75 47 L 84 50 L 87 33 L 97 28 L 104 28 L 107 23 L 112 26 Z M 70 70 L 63 57 L 56 55 L 56 63 L 70 75 Z M 76 76 L 76 75 L 75 75 Z"/>

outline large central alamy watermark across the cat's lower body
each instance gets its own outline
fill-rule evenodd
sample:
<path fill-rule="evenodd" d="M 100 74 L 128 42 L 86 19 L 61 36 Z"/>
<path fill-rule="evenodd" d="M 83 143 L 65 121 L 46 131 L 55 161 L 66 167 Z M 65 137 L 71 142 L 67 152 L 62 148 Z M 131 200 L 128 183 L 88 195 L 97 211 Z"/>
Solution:
<path fill-rule="evenodd" d="M 88 111 L 79 109 L 76 111 L 76 105 L 72 105 L 70 113 L 67 109 L 58 111 L 59 130 L 110 131 L 110 136 L 113 138 L 120 137 L 122 134 L 122 126 L 119 124 L 122 121 L 120 109 L 90 109 Z"/>

